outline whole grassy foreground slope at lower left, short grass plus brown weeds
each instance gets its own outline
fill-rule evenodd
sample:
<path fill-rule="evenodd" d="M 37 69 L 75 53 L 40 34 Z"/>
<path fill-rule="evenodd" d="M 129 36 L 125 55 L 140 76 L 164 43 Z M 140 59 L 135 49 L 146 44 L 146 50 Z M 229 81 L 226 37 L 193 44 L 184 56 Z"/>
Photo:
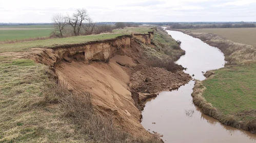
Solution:
<path fill-rule="evenodd" d="M 88 93 L 56 84 L 45 65 L 0 57 L 0 73 L 0 142 L 157 142 L 97 114 Z"/>

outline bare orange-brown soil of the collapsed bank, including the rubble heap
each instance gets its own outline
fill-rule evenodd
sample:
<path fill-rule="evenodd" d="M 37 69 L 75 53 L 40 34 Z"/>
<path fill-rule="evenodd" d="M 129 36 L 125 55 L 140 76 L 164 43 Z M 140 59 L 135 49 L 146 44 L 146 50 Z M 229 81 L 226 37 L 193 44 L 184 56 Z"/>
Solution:
<path fill-rule="evenodd" d="M 150 67 L 142 54 L 145 50 L 143 44 L 147 42 L 134 40 L 130 43 L 122 47 L 112 47 L 112 44 L 107 63 L 98 58 L 88 64 L 81 60 L 85 58 L 83 53 L 81 57 L 81 53 L 75 51 L 72 56 L 65 56 L 65 47 L 2 55 L 30 58 L 51 66 L 58 79 L 68 83 L 71 90 L 90 92 L 95 109 L 103 115 L 112 115 L 115 124 L 131 134 L 151 136 L 140 124 L 143 103 L 161 91 L 179 88 L 191 77 L 178 65 L 173 73 L 164 68 Z M 154 45 L 147 46 L 154 48 Z M 57 50 L 64 54 L 57 54 Z"/>

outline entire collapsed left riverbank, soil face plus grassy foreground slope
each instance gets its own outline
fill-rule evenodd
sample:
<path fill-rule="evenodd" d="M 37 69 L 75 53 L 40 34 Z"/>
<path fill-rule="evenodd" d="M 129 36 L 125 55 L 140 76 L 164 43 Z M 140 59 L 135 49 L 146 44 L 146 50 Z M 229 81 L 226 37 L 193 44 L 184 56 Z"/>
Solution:
<path fill-rule="evenodd" d="M 25 49 L 0 54 L 2 142 L 158 142 L 140 124 L 143 101 L 190 80 L 150 64 L 184 54 L 161 31 Z"/>

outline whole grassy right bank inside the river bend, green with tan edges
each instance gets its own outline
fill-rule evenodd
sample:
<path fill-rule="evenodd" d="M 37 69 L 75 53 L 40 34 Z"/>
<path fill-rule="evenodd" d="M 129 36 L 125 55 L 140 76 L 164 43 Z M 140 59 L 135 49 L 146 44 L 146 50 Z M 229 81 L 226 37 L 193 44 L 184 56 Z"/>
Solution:
<path fill-rule="evenodd" d="M 208 79 L 196 81 L 193 102 L 225 125 L 256 133 L 256 48 L 216 34 L 183 32 L 218 47 L 227 61 Z"/>

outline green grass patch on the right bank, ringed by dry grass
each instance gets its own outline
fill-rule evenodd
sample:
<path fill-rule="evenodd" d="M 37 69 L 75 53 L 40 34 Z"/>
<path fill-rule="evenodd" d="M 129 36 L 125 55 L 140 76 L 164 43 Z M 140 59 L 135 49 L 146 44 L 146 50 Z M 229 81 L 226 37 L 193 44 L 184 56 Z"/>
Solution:
<path fill-rule="evenodd" d="M 203 81 L 203 96 L 224 114 L 256 109 L 256 65 L 214 70 L 213 78 Z"/>

